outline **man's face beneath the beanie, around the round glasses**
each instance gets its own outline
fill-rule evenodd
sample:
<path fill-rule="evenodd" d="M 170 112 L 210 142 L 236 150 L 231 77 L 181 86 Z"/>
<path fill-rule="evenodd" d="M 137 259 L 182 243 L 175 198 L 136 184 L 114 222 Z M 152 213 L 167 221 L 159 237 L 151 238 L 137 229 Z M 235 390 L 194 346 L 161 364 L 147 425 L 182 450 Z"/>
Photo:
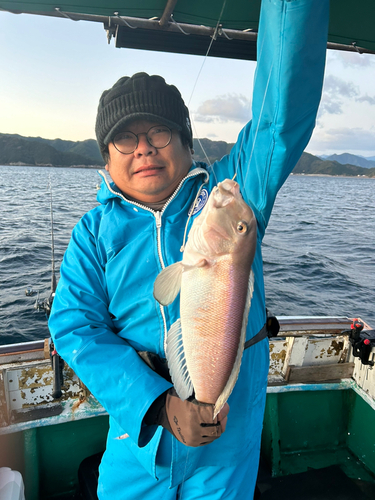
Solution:
<path fill-rule="evenodd" d="M 161 201 L 171 195 L 185 177 L 192 163 L 191 151 L 184 146 L 180 133 L 172 130 L 171 142 L 162 149 L 151 146 L 146 139 L 151 127 L 158 122 L 134 120 L 124 128 L 138 137 L 138 147 L 130 154 L 117 151 L 108 144 L 109 160 L 106 170 L 125 195 L 144 203 Z"/>

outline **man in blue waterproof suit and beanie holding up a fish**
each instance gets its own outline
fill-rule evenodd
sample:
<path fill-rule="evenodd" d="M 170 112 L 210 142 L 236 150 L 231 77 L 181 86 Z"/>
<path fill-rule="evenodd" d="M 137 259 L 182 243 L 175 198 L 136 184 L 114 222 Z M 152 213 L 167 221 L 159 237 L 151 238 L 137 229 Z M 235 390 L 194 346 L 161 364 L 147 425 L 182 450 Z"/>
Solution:
<path fill-rule="evenodd" d="M 277 191 L 315 124 L 328 7 L 329 0 L 263 1 L 253 123 L 212 166 L 216 178 L 192 160 L 188 110 L 161 77 L 124 77 L 100 99 L 96 133 L 113 183 L 102 183 L 101 205 L 73 231 L 50 329 L 60 355 L 110 415 L 101 500 L 167 500 L 182 491 L 184 500 L 253 497 L 267 340 L 244 352 L 230 411 L 226 405 L 212 421 L 209 405 L 181 401 L 168 380 L 165 340 L 179 304 L 160 306 L 153 283 L 181 260 L 189 211 L 194 220 L 216 180 L 237 173 L 258 224 L 247 339 L 262 329 L 261 241 Z"/>

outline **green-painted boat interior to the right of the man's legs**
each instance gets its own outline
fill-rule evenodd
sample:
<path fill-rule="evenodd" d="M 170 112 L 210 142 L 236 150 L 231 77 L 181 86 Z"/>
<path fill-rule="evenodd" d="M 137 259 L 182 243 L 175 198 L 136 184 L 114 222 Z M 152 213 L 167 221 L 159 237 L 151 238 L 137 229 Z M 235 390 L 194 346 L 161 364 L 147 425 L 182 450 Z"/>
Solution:
<path fill-rule="evenodd" d="M 374 410 L 353 390 L 268 394 L 262 456 L 274 476 L 340 465 L 375 482 Z"/>

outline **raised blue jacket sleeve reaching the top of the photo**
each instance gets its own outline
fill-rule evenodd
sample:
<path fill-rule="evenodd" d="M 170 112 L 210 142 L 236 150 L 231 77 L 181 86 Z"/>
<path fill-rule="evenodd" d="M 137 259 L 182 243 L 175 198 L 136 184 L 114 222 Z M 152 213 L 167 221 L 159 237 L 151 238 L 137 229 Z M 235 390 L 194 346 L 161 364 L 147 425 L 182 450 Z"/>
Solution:
<path fill-rule="evenodd" d="M 264 235 L 276 194 L 315 126 L 321 98 L 329 0 L 263 0 L 252 122 L 229 159 Z"/>

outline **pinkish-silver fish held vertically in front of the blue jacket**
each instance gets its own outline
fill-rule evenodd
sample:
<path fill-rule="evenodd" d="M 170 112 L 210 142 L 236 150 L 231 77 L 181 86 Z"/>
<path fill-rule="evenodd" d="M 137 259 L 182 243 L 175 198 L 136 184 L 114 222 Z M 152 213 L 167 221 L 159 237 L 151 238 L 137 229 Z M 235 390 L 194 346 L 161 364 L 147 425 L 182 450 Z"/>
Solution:
<path fill-rule="evenodd" d="M 171 304 L 180 292 L 180 318 L 166 342 L 171 379 L 180 399 L 193 393 L 214 405 L 214 417 L 237 381 L 254 290 L 251 265 L 257 223 L 237 182 L 212 190 L 194 220 L 182 260 L 161 271 L 154 297 Z"/>

